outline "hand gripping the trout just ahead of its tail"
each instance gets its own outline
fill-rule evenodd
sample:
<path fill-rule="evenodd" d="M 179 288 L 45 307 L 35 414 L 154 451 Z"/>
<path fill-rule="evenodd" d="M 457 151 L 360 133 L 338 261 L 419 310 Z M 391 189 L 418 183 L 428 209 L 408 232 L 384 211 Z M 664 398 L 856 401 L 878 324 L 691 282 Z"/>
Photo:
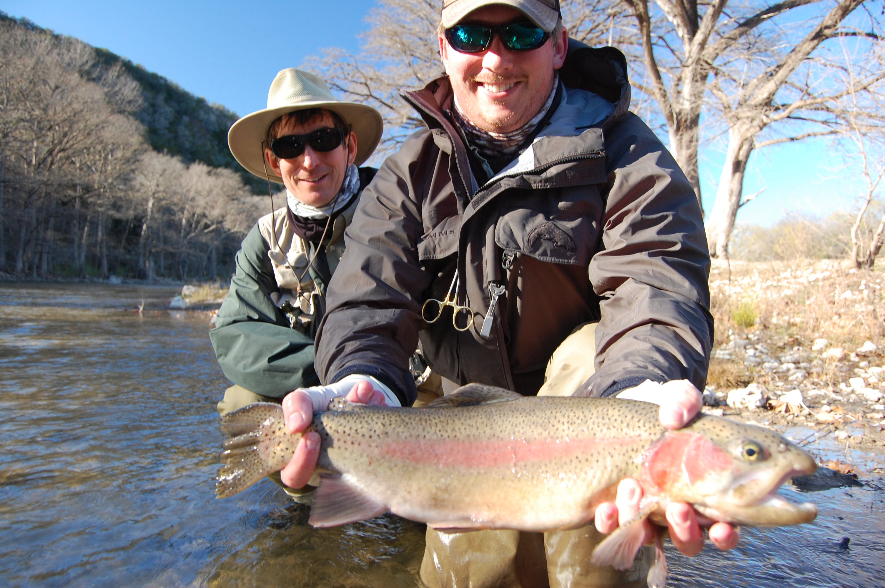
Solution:
<path fill-rule="evenodd" d="M 328 386 L 315 386 L 315 388 L 327 388 Z M 282 414 L 285 418 L 286 429 L 290 433 L 300 433 L 310 426 L 313 421 L 314 401 L 311 392 L 304 388 L 298 388 L 290 392 L 282 401 Z M 313 394 L 314 396 L 316 394 Z M 384 406 L 384 394 L 375 390 L 372 383 L 367 380 L 358 381 L 350 388 L 345 398 L 355 404 L 368 406 Z M 326 401 L 328 403 L 328 401 Z M 290 488 L 303 488 L 313 475 L 319 458 L 319 434 L 316 431 L 304 433 L 298 442 L 295 454 L 289 464 L 280 471 L 282 483 Z"/>

